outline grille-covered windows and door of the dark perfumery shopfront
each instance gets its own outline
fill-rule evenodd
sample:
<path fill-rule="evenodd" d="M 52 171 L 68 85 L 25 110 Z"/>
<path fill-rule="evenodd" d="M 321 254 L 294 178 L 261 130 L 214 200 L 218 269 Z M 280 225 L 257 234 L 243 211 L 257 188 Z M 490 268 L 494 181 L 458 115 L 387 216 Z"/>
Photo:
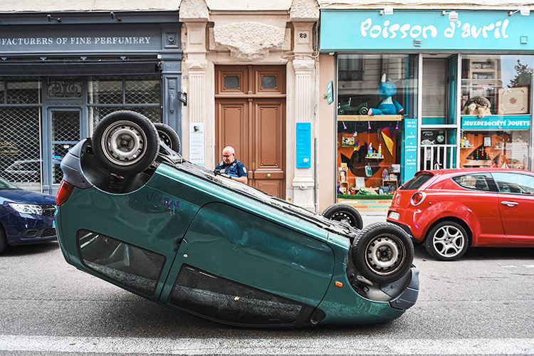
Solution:
<path fill-rule="evenodd" d="M 132 110 L 161 122 L 161 95 L 159 75 L 0 77 L 0 177 L 53 193 L 61 159 L 105 115 Z"/>

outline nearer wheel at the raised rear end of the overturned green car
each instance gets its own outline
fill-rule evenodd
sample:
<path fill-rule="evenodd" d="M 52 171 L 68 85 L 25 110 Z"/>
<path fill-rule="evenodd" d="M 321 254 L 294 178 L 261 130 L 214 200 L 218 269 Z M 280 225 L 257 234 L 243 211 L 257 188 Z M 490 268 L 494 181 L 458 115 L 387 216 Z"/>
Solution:
<path fill-rule="evenodd" d="M 115 174 L 131 175 L 144 171 L 155 161 L 158 149 L 156 127 L 138 112 L 112 112 L 93 132 L 95 158 Z"/>

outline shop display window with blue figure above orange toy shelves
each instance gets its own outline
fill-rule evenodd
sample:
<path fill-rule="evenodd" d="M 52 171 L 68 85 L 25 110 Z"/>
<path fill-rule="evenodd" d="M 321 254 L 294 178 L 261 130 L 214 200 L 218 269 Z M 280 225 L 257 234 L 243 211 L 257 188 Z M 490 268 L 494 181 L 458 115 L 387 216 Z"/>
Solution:
<path fill-rule="evenodd" d="M 337 70 L 337 193 L 389 198 L 402 182 L 404 117 L 417 112 L 417 55 L 340 54 Z"/>

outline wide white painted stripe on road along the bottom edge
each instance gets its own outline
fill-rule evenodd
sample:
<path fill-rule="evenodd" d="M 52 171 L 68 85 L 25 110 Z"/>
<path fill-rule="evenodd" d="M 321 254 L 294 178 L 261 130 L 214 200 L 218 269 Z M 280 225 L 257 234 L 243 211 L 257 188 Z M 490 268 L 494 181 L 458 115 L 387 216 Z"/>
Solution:
<path fill-rule="evenodd" d="M 155 338 L 0 335 L 0 351 L 167 355 L 533 355 L 534 338 Z"/>

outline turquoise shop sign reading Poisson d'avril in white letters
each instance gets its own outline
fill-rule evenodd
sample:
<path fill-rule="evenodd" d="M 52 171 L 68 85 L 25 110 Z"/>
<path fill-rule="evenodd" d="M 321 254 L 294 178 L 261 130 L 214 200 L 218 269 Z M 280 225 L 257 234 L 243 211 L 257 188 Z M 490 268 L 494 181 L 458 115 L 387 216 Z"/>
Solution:
<path fill-rule="evenodd" d="M 451 21 L 441 10 L 395 9 L 382 16 L 378 10 L 322 10 L 320 51 L 534 49 L 530 16 L 509 16 L 504 10 L 456 13 L 458 19 Z"/>

